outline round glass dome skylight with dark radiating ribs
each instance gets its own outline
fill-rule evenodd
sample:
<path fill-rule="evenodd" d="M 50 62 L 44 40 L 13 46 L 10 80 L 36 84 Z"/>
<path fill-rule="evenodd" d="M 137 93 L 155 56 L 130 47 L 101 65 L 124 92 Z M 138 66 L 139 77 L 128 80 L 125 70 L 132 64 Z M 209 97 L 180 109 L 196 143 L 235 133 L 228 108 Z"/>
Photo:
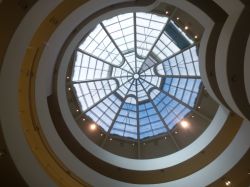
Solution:
<path fill-rule="evenodd" d="M 168 17 L 118 15 L 79 45 L 72 84 L 81 111 L 107 134 L 170 133 L 193 110 L 200 90 L 197 48 Z"/>

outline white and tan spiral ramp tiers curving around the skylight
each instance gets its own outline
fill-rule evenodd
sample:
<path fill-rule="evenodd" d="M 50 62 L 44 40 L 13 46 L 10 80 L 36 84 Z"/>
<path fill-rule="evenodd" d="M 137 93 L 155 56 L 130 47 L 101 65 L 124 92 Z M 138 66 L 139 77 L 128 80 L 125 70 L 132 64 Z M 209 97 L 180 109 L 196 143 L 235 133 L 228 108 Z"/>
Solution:
<path fill-rule="evenodd" d="M 203 28 L 199 107 L 209 124 L 177 152 L 129 159 L 70 127 L 74 119 L 63 91 L 68 66 L 59 61 L 71 58 L 72 38 L 101 17 L 159 4 L 188 13 Z M 3 186 L 250 185 L 249 1 L 3 0 L 0 10 Z"/>

